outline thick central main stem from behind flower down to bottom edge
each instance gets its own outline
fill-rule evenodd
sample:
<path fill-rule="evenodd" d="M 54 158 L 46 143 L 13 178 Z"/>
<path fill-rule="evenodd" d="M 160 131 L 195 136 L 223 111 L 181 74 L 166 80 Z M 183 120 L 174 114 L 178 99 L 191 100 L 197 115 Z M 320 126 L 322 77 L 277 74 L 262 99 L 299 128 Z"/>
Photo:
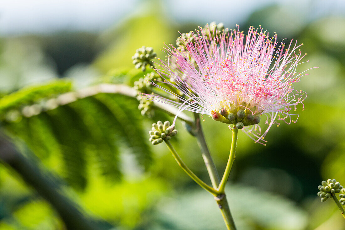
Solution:
<path fill-rule="evenodd" d="M 197 142 L 200 147 L 207 172 L 210 176 L 212 186 L 214 189 L 217 189 L 220 182 L 218 171 L 217 171 L 216 165 L 213 162 L 210 151 L 208 150 L 203 129 L 201 127 L 199 114 L 198 113 L 193 113 L 193 114 L 194 114 L 195 128 L 196 128 L 196 130 L 194 130 L 194 134 L 195 134 L 195 137 L 197 138 Z M 215 200 L 218 204 L 218 208 L 220 209 L 221 215 L 223 216 L 226 228 L 228 230 L 236 230 L 235 222 L 231 215 L 229 204 L 226 199 L 225 193 L 215 196 Z"/>

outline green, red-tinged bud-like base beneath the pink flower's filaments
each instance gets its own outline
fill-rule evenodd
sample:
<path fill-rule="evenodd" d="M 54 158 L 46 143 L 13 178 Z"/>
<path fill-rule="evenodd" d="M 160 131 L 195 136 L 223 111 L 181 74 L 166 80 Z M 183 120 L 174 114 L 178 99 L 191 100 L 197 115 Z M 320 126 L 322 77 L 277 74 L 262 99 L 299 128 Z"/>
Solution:
<path fill-rule="evenodd" d="M 211 113 L 211 117 L 215 121 L 234 124 L 236 128 L 242 129 L 247 125 L 259 124 L 262 112 L 263 111 L 257 110 L 256 106 L 250 106 L 250 104 L 241 102 L 239 104 L 230 104 L 230 106 L 214 110 Z"/>

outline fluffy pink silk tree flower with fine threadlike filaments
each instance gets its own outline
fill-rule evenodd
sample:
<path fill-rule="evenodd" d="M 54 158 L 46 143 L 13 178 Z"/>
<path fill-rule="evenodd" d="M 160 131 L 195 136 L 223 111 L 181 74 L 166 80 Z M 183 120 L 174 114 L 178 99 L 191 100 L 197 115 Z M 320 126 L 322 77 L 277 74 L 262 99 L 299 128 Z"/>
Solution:
<path fill-rule="evenodd" d="M 155 85 L 169 97 L 154 95 L 154 100 L 210 115 L 261 144 L 273 124 L 297 121 L 291 112 L 306 98 L 293 86 L 305 72 L 296 72 L 303 44 L 291 41 L 286 48 L 276 33 L 269 37 L 261 27 L 250 27 L 245 35 L 238 26 L 217 31 L 215 25 L 182 34 L 177 44 L 164 48 L 167 59 L 155 63 L 164 79 Z M 265 131 L 259 125 L 263 115 Z"/>

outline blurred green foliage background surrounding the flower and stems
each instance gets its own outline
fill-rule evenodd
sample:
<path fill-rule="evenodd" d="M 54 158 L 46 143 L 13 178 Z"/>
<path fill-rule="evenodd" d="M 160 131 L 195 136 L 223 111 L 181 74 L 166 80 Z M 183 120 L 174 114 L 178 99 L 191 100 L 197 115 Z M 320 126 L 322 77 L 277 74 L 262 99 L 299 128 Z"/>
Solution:
<path fill-rule="evenodd" d="M 82 213 L 100 220 L 103 229 L 224 228 L 212 197 L 185 175 L 164 145 L 152 147 L 148 141 L 152 122 L 172 117 L 159 111 L 150 119 L 143 117 L 135 98 L 117 94 L 59 104 L 61 95 L 88 86 L 133 86 L 144 75 L 131 64 L 137 48 L 154 47 L 164 58 L 159 49 L 163 42 L 175 44 L 178 30 L 188 32 L 211 22 L 202 17 L 209 3 L 186 3 L 195 6 L 191 15 L 200 10 L 201 16 L 191 20 L 182 17 L 186 9 L 176 15 L 174 4 L 180 1 L 167 2 L 135 1 L 128 15 L 102 31 L 66 28 L 5 33 L 0 39 L 1 132 L 53 176 Z M 235 9 L 217 1 L 217 13 L 206 17 L 222 20 L 228 28 L 238 23 L 246 31 L 250 25 L 262 25 L 269 33 L 277 32 L 280 40 L 298 39 L 309 60 L 298 70 L 318 67 L 308 70 L 296 86 L 308 93 L 296 124 L 273 127 L 267 146 L 239 135 L 227 187 L 239 229 L 345 229 L 336 206 L 316 196 L 322 180 L 335 178 L 345 185 L 345 17 L 333 14 L 344 12 L 339 10 L 344 4 L 331 2 L 267 1 L 239 17 L 227 16 Z M 126 8 L 118 7 L 118 12 Z M 206 117 L 203 125 L 222 174 L 229 130 Z M 172 140 L 176 150 L 209 181 L 194 138 L 182 124 L 177 128 Z M 65 228 L 51 204 L 6 163 L 0 167 L 0 194 L 0 229 Z"/>

